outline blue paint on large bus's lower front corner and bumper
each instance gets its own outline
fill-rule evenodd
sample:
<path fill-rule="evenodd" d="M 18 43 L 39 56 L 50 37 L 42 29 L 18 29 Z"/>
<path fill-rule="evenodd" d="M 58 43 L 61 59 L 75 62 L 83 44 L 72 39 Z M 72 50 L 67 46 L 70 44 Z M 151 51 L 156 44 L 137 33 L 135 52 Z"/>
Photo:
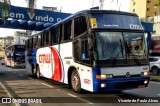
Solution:
<path fill-rule="evenodd" d="M 148 80 L 148 81 L 150 80 L 150 77 L 111 78 L 106 80 L 97 80 L 96 75 L 97 74 L 100 75 L 100 68 L 92 68 L 92 71 L 93 71 L 93 92 L 116 91 L 116 90 L 127 90 L 127 89 L 138 88 L 138 86 L 132 87 L 132 84 L 139 83 L 143 85 L 145 80 Z M 101 88 L 102 83 L 106 84 L 106 87 Z M 126 87 L 118 88 L 119 86 L 123 86 L 123 84 Z M 125 84 L 128 84 L 128 85 L 125 85 Z"/>

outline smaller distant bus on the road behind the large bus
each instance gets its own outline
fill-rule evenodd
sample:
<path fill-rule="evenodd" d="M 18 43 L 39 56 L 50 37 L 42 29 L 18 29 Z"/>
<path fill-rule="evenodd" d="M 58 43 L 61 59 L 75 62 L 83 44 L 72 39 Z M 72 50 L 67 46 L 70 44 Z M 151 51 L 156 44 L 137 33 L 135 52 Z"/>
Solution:
<path fill-rule="evenodd" d="M 25 68 L 25 45 L 12 44 L 5 48 L 5 65 Z"/>

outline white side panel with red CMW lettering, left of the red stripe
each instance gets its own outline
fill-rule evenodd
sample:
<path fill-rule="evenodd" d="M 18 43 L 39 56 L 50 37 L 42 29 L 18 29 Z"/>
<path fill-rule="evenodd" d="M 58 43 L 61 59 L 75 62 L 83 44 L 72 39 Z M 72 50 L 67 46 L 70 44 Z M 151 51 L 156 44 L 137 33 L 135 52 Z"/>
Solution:
<path fill-rule="evenodd" d="M 37 50 L 36 60 L 40 68 L 40 73 L 43 77 L 52 78 L 52 62 L 51 62 L 51 48 L 44 47 Z"/>

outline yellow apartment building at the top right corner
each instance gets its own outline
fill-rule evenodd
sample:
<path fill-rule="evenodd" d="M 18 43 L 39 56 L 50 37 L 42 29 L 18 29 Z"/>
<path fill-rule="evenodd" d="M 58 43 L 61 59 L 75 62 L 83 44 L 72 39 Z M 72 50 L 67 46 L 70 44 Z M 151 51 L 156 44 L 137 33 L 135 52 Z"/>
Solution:
<path fill-rule="evenodd" d="M 137 13 L 140 18 L 158 15 L 159 0 L 130 0 L 130 12 Z"/>

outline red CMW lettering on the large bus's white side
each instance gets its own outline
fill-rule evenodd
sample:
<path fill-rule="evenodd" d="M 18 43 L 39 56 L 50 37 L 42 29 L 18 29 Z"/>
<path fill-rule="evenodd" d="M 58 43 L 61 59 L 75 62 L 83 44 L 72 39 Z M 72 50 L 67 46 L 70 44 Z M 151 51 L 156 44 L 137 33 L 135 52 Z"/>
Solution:
<path fill-rule="evenodd" d="M 50 54 L 40 54 L 39 55 L 39 63 L 51 63 Z"/>

